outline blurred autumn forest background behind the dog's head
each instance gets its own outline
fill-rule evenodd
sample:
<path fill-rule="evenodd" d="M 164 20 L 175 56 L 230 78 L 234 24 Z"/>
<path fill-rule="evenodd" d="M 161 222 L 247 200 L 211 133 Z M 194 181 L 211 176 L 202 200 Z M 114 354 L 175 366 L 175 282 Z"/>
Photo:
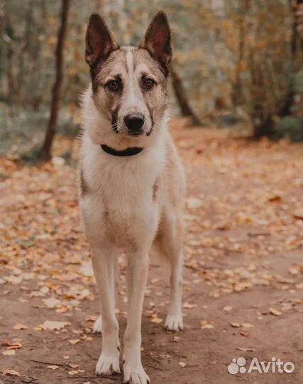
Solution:
<path fill-rule="evenodd" d="M 0 154 L 40 150 L 46 131 L 48 141 L 56 129 L 77 135 L 79 92 L 89 82 L 84 33 L 94 11 L 120 45 L 140 43 L 153 15 L 167 12 L 176 115 L 201 129 L 236 127 L 255 139 L 301 140 L 302 3 L 0 0 Z"/>

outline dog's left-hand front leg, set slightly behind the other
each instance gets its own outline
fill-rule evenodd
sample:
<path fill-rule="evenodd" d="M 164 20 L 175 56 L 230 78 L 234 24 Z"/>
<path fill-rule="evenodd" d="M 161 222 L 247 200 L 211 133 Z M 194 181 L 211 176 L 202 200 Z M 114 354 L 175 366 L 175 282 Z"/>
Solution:
<path fill-rule="evenodd" d="M 92 265 L 102 308 L 102 351 L 97 375 L 119 373 L 119 325 L 115 315 L 115 250 L 110 245 L 92 245 Z"/>

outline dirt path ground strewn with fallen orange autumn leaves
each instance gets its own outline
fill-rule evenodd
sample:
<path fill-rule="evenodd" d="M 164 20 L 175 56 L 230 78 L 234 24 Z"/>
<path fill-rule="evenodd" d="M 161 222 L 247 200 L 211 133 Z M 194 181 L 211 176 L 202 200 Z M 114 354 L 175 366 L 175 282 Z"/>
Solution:
<path fill-rule="evenodd" d="M 301 147 L 172 125 L 188 176 L 185 327 L 162 329 L 167 270 L 152 258 L 142 329 L 152 383 L 302 383 Z M 55 151 L 65 145 L 59 139 Z M 92 333 L 99 311 L 75 165 L 55 157 L 0 166 L 0 383 L 121 383 L 119 375 L 94 375 L 102 337 Z M 123 256 L 120 267 L 122 336 Z M 240 357 L 246 368 L 254 357 L 295 368 L 228 373 Z"/>

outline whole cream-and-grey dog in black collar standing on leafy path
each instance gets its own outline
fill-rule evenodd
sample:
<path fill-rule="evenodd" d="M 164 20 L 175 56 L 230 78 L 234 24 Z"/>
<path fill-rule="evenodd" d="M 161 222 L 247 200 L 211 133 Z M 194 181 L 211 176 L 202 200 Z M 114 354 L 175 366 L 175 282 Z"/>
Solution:
<path fill-rule="evenodd" d="M 82 100 L 79 206 L 101 301 L 102 315 L 94 324 L 102 332 L 97 375 L 120 372 L 115 296 L 121 250 L 127 259 L 123 383 L 150 383 L 141 363 L 141 317 L 153 243 L 171 265 L 165 329 L 183 329 L 185 176 L 167 129 L 171 59 L 164 13 L 153 18 L 138 47 L 119 47 L 99 15 L 89 18 L 85 60 L 92 82 Z"/>

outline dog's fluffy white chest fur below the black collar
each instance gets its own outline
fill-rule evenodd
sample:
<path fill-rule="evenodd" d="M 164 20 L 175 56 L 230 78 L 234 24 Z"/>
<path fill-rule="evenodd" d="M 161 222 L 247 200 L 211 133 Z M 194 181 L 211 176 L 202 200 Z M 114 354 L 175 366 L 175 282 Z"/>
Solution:
<path fill-rule="evenodd" d="M 153 235 L 159 220 L 153 186 L 165 167 L 165 142 L 136 156 L 119 157 L 84 137 L 82 153 L 89 193 L 81 208 L 89 233 L 111 238 L 119 234 L 119 239 L 138 237 L 141 231 Z"/>

